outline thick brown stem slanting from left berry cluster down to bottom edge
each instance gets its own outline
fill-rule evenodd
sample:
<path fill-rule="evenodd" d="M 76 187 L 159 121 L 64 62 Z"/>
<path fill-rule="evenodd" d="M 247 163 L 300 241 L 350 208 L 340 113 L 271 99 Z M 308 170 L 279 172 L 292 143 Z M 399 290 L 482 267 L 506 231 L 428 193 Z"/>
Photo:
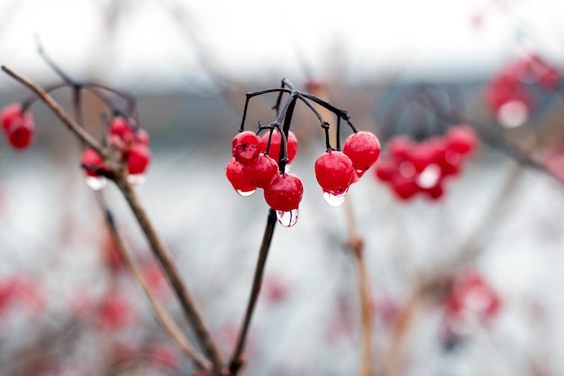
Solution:
<path fill-rule="evenodd" d="M 166 272 L 168 280 L 177 294 L 180 305 L 184 309 L 186 318 L 194 327 L 199 343 L 205 349 L 205 353 L 207 353 L 214 365 L 214 371 L 219 372 L 223 367 L 222 356 L 219 353 L 209 330 L 205 326 L 204 319 L 196 307 L 196 301 L 192 298 L 192 295 L 186 288 L 186 283 L 182 280 L 177 264 L 172 259 L 172 255 L 168 252 L 168 249 L 160 240 L 159 235 L 150 222 L 149 216 L 147 216 L 145 209 L 141 206 L 137 193 L 127 182 L 125 171 L 122 170 L 121 173 L 116 173 L 114 181 L 131 207 L 133 215 L 137 219 L 137 222 L 141 226 L 143 233 L 150 243 L 152 252 L 159 260 L 163 270 Z"/>

